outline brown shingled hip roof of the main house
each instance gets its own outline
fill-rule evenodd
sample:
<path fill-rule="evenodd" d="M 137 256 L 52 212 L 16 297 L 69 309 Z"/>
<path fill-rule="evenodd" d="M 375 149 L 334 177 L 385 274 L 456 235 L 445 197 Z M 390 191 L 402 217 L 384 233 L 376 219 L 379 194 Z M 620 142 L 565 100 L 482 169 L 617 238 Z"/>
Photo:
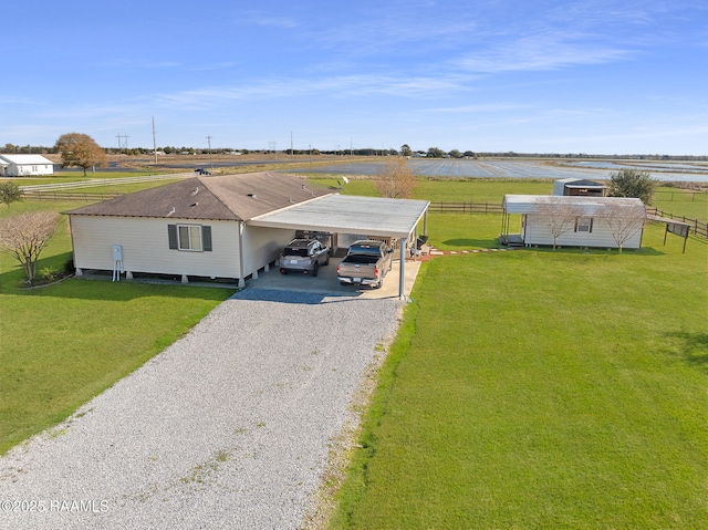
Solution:
<path fill-rule="evenodd" d="M 325 195 L 331 191 L 274 173 L 201 176 L 77 208 L 69 215 L 248 220 Z"/>

